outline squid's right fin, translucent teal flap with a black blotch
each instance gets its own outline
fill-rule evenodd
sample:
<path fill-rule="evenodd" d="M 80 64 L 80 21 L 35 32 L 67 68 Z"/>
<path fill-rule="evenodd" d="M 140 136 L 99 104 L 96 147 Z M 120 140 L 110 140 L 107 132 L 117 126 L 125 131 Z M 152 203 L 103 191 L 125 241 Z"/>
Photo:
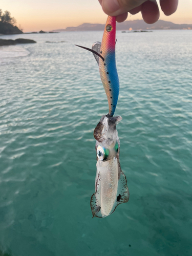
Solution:
<path fill-rule="evenodd" d="M 130 193 L 129 193 L 129 188 L 127 187 L 126 177 L 121 171 L 120 178 L 118 181 L 118 187 L 117 187 L 117 197 L 116 197 L 114 206 L 112 208 L 111 214 L 114 212 L 114 210 L 119 204 L 128 202 L 129 198 L 130 198 Z"/>

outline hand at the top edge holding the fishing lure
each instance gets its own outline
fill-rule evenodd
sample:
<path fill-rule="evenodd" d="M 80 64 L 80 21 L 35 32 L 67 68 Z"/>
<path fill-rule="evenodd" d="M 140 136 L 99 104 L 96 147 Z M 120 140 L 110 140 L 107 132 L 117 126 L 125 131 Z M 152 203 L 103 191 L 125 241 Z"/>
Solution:
<path fill-rule="evenodd" d="M 124 22 L 127 12 L 141 12 L 144 22 L 152 24 L 159 19 L 159 8 L 156 0 L 99 0 L 103 11 L 116 16 L 117 22 Z M 178 0 L 160 0 L 161 10 L 165 15 L 171 15 L 177 10 Z"/>

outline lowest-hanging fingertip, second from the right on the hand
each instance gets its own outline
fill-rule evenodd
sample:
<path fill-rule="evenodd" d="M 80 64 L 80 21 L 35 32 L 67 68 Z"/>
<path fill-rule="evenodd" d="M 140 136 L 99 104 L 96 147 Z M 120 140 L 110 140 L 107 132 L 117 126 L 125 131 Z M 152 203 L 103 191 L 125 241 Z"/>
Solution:
<path fill-rule="evenodd" d="M 141 6 L 143 20 L 147 24 L 153 24 L 159 19 L 160 13 L 156 2 L 147 1 Z"/>

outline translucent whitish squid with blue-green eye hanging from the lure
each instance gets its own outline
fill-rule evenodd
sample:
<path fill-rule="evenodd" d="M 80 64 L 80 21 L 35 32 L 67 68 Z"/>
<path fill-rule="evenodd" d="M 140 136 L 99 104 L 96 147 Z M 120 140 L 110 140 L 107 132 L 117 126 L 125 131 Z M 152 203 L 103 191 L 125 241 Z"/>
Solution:
<path fill-rule="evenodd" d="M 94 131 L 97 173 L 95 193 L 91 197 L 93 217 L 109 216 L 117 205 L 129 200 L 126 177 L 119 162 L 120 141 L 116 125 L 121 119 L 120 116 L 102 116 Z"/>

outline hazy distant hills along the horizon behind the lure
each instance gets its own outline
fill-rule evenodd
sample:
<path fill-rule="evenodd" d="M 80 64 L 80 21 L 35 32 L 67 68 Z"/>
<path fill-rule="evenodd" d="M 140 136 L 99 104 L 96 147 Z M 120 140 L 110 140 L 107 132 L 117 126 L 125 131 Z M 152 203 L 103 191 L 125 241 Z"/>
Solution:
<path fill-rule="evenodd" d="M 53 30 L 54 32 L 61 32 L 61 31 L 98 31 L 104 29 L 104 24 L 90 24 L 90 23 L 83 23 L 78 27 L 68 27 L 66 29 L 56 29 Z M 129 30 L 132 28 L 133 30 L 147 30 L 147 29 L 192 29 L 192 24 L 175 24 L 172 22 L 165 22 L 164 20 L 158 20 L 154 24 L 146 24 L 142 19 L 136 20 L 126 20 L 123 23 L 117 23 L 116 29 L 117 30 Z"/>

